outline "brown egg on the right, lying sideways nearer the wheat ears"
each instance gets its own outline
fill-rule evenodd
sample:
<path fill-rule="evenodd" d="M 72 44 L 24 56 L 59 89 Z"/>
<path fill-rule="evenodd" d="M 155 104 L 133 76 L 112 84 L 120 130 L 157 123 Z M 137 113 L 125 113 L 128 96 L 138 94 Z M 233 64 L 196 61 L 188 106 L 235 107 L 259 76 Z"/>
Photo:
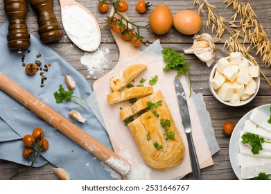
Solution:
<path fill-rule="evenodd" d="M 193 35 L 200 31 L 202 19 L 198 13 L 192 10 L 182 10 L 177 12 L 173 18 L 173 25 L 176 30 L 184 35 Z"/>

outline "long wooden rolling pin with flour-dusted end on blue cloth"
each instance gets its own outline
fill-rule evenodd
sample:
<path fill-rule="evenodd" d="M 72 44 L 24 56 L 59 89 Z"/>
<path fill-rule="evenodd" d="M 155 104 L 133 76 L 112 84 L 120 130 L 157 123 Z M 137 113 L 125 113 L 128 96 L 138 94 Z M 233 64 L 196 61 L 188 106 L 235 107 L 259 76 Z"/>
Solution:
<path fill-rule="evenodd" d="M 30 92 L 26 91 L 26 89 L 22 88 L 2 72 L 0 72 L 0 80 L 0 89 L 6 92 L 6 94 L 34 112 L 37 116 L 40 116 L 40 118 L 78 143 L 78 145 L 81 145 L 82 148 L 85 148 L 92 155 L 98 157 L 98 159 L 116 170 L 116 172 L 121 175 L 128 174 L 131 165 L 126 159 L 112 152 L 112 150 L 105 147 L 105 145 L 87 134 L 87 132 L 80 129 L 77 125 L 71 123 L 71 121 L 46 105 L 42 100 L 30 94 Z"/>

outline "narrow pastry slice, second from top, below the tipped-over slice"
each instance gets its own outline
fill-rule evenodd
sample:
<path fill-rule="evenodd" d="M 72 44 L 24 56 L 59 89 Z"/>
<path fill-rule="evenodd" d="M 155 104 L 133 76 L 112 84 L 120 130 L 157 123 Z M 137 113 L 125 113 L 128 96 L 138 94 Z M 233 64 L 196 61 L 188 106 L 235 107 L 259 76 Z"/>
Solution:
<path fill-rule="evenodd" d="M 142 96 L 147 96 L 153 93 L 153 88 L 151 86 L 147 87 L 130 87 L 124 91 L 115 91 L 111 94 L 107 94 L 107 102 L 110 105 L 115 103 L 120 103 L 125 100 L 130 100 L 132 98 L 140 98 Z"/>

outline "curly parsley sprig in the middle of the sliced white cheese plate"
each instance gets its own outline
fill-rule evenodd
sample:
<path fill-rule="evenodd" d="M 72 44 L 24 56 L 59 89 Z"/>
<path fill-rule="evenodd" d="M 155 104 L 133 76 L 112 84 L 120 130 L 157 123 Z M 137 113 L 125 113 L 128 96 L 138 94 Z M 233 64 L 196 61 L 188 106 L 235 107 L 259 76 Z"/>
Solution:
<path fill-rule="evenodd" d="M 265 141 L 264 138 L 260 137 L 258 134 L 254 133 L 246 133 L 243 134 L 242 136 L 242 143 L 245 144 L 250 144 L 252 146 L 252 153 L 253 155 L 258 155 L 261 150 L 263 150 L 263 146 L 261 145 L 262 143 L 271 143 L 271 141 Z"/>

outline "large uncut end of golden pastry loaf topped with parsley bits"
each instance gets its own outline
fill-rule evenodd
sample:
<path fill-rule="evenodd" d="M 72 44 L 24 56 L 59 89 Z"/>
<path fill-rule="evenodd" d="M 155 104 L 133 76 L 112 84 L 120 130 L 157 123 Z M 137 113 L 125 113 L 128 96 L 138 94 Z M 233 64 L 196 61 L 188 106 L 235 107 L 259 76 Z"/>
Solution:
<path fill-rule="evenodd" d="M 162 127 L 161 123 L 170 122 Z M 128 124 L 132 136 L 148 166 L 166 170 L 184 159 L 184 143 L 165 101 Z M 165 130 L 166 128 L 166 130 Z M 175 134 L 168 138 L 168 134 Z"/>

